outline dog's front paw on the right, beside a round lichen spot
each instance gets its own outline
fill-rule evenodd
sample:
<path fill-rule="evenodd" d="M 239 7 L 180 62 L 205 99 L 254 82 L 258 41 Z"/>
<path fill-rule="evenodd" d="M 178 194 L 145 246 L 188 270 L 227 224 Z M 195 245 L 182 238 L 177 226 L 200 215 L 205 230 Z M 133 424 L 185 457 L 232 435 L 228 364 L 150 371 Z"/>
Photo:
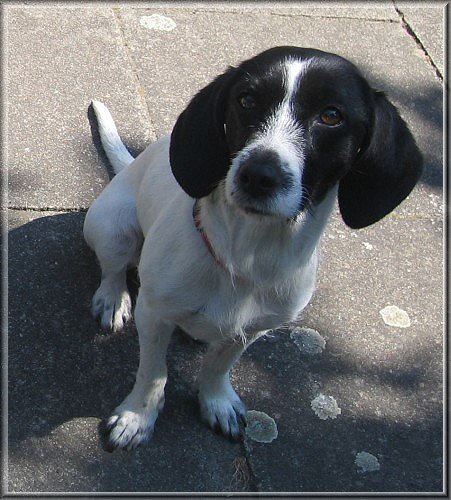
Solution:
<path fill-rule="evenodd" d="M 200 389 L 199 403 L 203 421 L 213 430 L 221 431 L 232 441 L 241 439 L 246 407 L 230 384 L 215 392 Z"/>

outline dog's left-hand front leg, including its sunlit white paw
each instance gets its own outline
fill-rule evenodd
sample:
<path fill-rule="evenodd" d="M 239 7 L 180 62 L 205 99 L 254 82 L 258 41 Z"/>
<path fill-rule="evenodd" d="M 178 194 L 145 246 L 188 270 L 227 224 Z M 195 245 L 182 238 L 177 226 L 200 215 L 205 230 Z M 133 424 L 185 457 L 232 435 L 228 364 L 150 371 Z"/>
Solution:
<path fill-rule="evenodd" d="M 148 440 L 158 412 L 164 405 L 167 379 L 166 351 L 173 325 L 157 318 L 155 311 L 138 296 L 135 321 L 139 335 L 139 368 L 132 392 L 101 426 L 104 447 L 131 450 Z"/>

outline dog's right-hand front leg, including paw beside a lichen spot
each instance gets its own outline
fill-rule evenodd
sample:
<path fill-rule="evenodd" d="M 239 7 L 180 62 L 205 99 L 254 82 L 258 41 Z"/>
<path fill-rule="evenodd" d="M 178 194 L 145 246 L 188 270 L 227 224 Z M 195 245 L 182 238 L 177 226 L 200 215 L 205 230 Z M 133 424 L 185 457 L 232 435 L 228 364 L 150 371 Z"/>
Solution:
<path fill-rule="evenodd" d="M 244 350 L 258 337 L 229 340 L 210 345 L 199 375 L 199 403 L 202 419 L 214 430 L 236 441 L 241 437 L 240 421 L 246 407 L 230 383 L 230 369 Z"/>

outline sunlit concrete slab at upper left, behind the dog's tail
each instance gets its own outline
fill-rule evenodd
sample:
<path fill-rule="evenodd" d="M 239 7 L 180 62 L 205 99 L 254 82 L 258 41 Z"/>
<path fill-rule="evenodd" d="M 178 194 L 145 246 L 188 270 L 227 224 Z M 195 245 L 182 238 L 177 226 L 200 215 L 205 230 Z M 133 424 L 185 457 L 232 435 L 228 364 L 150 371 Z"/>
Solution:
<path fill-rule="evenodd" d="M 108 180 L 87 119 L 91 99 L 114 107 L 132 149 L 154 137 L 114 11 L 6 5 L 4 12 L 9 204 L 87 207 Z"/>

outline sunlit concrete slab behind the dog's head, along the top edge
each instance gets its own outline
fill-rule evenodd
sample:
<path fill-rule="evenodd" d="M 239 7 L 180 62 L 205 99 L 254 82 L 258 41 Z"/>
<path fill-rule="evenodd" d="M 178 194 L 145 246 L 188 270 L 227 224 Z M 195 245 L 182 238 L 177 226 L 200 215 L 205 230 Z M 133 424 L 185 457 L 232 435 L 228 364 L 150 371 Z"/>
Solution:
<path fill-rule="evenodd" d="M 349 11 L 352 15 L 352 8 Z M 154 14 L 172 19 L 173 29 L 145 28 L 141 20 Z M 425 189 L 417 196 L 417 206 L 407 204 L 402 209 L 428 211 L 429 194 L 441 196 L 442 88 L 399 23 L 324 17 L 318 31 L 318 19 L 303 14 L 275 16 L 270 9 L 255 13 L 169 6 L 123 8 L 119 19 L 147 90 L 157 135 L 170 132 L 189 99 L 228 65 L 273 45 L 314 46 L 359 65 L 373 85 L 385 90 L 400 108 L 417 137 L 425 156 Z"/>

